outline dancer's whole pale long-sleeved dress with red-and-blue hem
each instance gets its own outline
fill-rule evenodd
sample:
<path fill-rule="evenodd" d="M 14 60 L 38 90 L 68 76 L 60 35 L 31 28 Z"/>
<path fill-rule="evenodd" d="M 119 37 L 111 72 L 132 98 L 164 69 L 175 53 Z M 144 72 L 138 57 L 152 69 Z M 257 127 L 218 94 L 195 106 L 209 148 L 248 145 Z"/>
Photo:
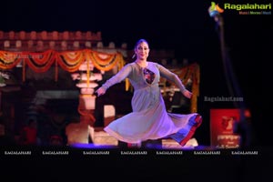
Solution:
<path fill-rule="evenodd" d="M 127 64 L 103 85 L 108 89 L 127 77 L 134 87 L 131 101 L 133 112 L 114 120 L 104 130 L 110 136 L 126 143 L 139 143 L 169 136 L 178 143 L 184 141 L 185 144 L 199 126 L 195 121 L 198 114 L 167 113 L 158 82 L 160 76 L 163 76 L 173 81 L 182 91 L 185 86 L 177 75 L 164 66 L 154 62 L 147 63 L 145 68 L 136 63 Z"/>

